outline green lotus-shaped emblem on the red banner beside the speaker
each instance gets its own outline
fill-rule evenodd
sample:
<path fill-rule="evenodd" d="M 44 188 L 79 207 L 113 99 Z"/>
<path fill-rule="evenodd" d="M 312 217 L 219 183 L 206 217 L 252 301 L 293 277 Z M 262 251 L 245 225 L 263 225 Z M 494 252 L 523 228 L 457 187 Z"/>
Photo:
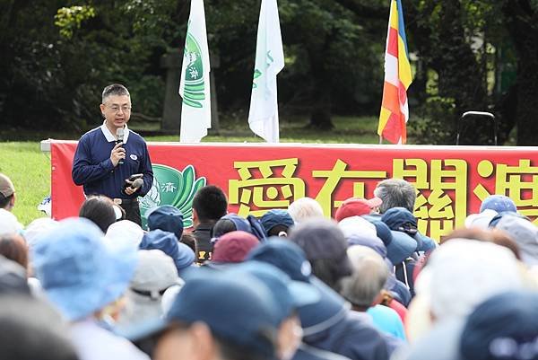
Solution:
<path fill-rule="evenodd" d="M 187 165 L 183 171 L 161 164 L 153 164 L 152 168 L 152 189 L 140 200 L 143 228 L 147 228 L 146 211 L 161 205 L 178 207 L 183 213 L 184 226 L 192 226 L 193 198 L 196 191 L 205 186 L 206 179 L 196 179 L 193 165 Z"/>

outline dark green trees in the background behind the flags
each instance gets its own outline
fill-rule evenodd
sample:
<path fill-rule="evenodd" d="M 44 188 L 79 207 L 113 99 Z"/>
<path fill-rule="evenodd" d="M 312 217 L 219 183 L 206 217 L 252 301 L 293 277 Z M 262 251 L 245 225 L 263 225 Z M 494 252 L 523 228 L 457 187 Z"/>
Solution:
<path fill-rule="evenodd" d="M 177 0 L 0 0 L 0 118 L 5 127 L 81 131 L 100 122 L 100 92 L 125 83 L 134 111 L 160 117 L 161 57 L 181 52 L 190 8 Z M 248 108 L 260 0 L 204 0 L 219 109 Z M 376 114 L 383 84 L 386 0 L 279 0 L 286 66 L 282 114 Z M 465 110 L 494 110 L 500 138 L 534 119 L 537 0 L 406 0 L 415 79 L 415 136 L 451 144 Z M 217 66 L 218 64 L 218 66 Z M 523 68 L 530 70 L 523 70 Z M 514 83 L 521 85 L 519 90 Z M 517 96 L 514 96 L 517 92 Z M 519 93 L 525 92 L 525 93 Z M 509 101 L 507 102 L 507 99 Z M 508 105 L 507 105 L 508 103 Z M 516 110 L 517 108 L 517 110 Z M 538 108 L 538 106 L 535 106 Z M 316 114 L 316 117 L 314 116 Z M 420 125 L 422 124 L 422 125 Z M 425 125 L 424 125 L 425 124 Z M 428 125 L 430 124 L 430 125 Z M 435 127 L 435 137 L 421 132 Z M 466 139 L 482 143 L 481 128 Z M 521 134 L 521 133 L 520 133 Z M 412 134 L 411 134 L 412 135 Z"/>

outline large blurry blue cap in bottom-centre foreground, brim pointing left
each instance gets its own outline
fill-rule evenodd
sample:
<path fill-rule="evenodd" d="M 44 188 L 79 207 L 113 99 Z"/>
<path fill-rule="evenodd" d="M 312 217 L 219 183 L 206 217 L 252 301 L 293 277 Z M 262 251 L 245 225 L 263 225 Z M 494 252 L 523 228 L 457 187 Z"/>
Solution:
<path fill-rule="evenodd" d="M 168 321 L 202 321 L 224 341 L 263 356 L 275 355 L 276 304 L 261 281 L 205 268 L 189 271 L 186 280 L 167 314 Z"/>

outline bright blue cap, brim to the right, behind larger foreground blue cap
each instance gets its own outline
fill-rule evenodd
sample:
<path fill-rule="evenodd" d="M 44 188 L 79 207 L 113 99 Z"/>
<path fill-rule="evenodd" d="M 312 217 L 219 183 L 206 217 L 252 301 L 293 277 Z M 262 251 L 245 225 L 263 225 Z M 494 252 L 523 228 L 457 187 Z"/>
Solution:
<path fill-rule="evenodd" d="M 319 301 L 319 293 L 313 285 L 291 280 L 281 269 L 261 261 L 247 261 L 230 268 L 230 276 L 243 272 L 263 282 L 273 293 L 277 304 L 276 324 L 290 317 L 294 310 Z"/>

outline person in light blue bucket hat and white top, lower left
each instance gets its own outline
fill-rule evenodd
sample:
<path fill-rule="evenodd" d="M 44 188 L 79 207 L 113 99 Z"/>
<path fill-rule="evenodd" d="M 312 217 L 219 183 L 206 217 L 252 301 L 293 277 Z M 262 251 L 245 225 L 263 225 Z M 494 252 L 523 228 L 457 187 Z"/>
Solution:
<path fill-rule="evenodd" d="M 48 300 L 70 323 L 81 360 L 148 360 L 101 325 L 115 315 L 134 274 L 137 250 L 132 242 L 107 241 L 90 220 L 68 218 L 41 235 L 31 255 Z"/>

